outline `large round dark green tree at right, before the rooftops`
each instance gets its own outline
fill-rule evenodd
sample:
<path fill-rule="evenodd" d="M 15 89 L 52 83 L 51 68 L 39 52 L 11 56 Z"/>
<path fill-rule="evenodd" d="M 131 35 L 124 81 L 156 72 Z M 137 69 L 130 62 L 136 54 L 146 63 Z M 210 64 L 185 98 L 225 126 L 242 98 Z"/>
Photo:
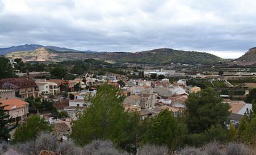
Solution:
<path fill-rule="evenodd" d="M 225 126 L 229 122 L 230 106 L 222 103 L 222 98 L 213 88 L 190 94 L 185 105 L 188 112 L 186 124 L 191 133 L 202 133 L 211 126 Z"/>

